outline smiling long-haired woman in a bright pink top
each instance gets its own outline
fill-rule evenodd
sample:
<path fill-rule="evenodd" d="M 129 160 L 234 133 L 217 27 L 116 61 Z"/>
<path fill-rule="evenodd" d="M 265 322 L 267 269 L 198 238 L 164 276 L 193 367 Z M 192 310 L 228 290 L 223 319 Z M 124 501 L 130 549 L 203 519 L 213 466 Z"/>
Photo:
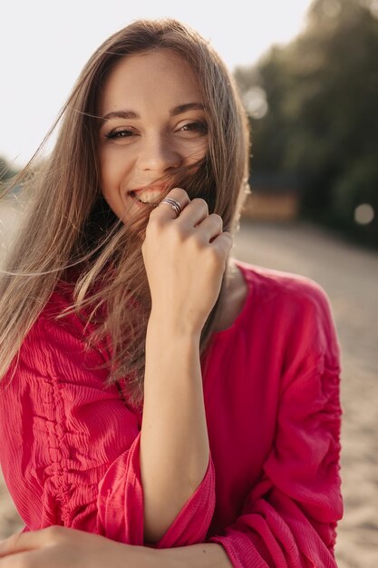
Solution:
<path fill-rule="evenodd" d="M 335 566 L 334 324 L 314 282 L 230 257 L 248 136 L 224 64 L 136 22 L 62 118 L 2 280 L 0 453 L 26 531 L 92 535 L 1 562 Z"/>

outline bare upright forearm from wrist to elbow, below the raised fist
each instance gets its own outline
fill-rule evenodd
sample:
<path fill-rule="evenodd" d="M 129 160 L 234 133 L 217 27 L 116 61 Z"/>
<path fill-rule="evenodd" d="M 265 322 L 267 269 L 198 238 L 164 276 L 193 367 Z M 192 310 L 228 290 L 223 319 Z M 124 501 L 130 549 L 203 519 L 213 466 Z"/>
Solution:
<path fill-rule="evenodd" d="M 141 426 L 146 542 L 156 543 L 208 466 L 199 336 L 150 318 Z"/>

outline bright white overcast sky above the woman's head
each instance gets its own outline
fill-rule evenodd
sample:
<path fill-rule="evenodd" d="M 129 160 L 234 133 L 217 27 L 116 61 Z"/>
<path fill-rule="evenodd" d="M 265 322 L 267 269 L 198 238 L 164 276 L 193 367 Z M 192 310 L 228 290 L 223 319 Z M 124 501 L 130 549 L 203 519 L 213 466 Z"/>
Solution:
<path fill-rule="evenodd" d="M 138 18 L 194 27 L 232 71 L 305 25 L 311 0 L 7 0 L 1 8 L 0 156 L 27 162 L 93 51 Z"/>

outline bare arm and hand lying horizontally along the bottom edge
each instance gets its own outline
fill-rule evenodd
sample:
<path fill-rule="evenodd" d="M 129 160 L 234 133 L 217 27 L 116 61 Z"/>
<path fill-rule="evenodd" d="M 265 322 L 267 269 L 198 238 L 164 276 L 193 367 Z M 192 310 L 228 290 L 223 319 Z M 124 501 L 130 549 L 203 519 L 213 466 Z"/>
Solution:
<path fill-rule="evenodd" d="M 0 568 L 232 568 L 219 544 L 156 550 L 53 526 L 0 543 Z"/>

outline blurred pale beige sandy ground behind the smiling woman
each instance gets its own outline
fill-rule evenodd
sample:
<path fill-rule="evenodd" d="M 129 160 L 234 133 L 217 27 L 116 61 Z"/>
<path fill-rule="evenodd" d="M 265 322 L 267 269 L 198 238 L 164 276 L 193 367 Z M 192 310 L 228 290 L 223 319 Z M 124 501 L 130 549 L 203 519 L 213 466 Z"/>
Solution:
<path fill-rule="evenodd" d="M 12 207 L 3 203 L 0 230 L 15 233 L 16 220 Z M 243 220 L 234 256 L 315 279 L 331 300 L 342 347 L 344 409 L 345 512 L 338 527 L 337 563 L 340 568 L 377 568 L 378 254 L 301 221 Z M 21 526 L 0 479 L 0 537 Z"/>

